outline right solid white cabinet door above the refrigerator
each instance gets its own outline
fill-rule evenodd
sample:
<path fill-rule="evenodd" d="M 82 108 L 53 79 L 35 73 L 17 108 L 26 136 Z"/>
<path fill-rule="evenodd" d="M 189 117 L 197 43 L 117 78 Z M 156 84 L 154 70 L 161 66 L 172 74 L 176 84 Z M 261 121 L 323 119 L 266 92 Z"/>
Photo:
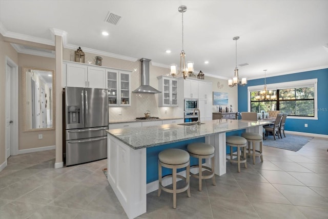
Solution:
<path fill-rule="evenodd" d="M 88 66 L 88 87 L 106 88 L 106 69 Z"/>

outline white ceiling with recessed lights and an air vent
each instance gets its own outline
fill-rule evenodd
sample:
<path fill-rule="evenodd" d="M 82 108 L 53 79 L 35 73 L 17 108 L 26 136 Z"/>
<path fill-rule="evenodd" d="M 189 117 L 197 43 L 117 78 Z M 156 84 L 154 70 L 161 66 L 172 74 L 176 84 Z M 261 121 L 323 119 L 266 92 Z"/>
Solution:
<path fill-rule="evenodd" d="M 0 32 L 130 61 L 179 66 L 183 14 L 186 61 L 195 71 L 248 79 L 328 68 L 328 1 L 0 1 Z M 108 13 L 121 16 L 116 25 Z M 53 30 L 54 30 L 53 29 Z M 101 35 L 108 31 L 109 36 Z M 171 50 L 170 54 L 166 50 Z M 204 64 L 208 61 L 208 64 Z M 239 66 L 248 63 L 249 65 Z M 168 70 L 169 71 L 169 70 Z"/>

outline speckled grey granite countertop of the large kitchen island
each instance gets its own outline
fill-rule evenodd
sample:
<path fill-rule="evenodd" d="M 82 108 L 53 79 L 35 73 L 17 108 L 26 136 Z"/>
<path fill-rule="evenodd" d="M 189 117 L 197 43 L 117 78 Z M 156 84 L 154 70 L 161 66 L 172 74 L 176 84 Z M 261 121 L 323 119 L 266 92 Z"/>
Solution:
<path fill-rule="evenodd" d="M 172 118 L 171 118 L 172 119 Z M 119 141 L 133 149 L 153 147 L 183 140 L 212 135 L 215 133 L 229 132 L 248 127 L 270 124 L 270 122 L 242 121 L 242 120 L 210 120 L 204 124 L 182 126 L 166 124 L 158 126 L 110 129 L 107 132 Z"/>

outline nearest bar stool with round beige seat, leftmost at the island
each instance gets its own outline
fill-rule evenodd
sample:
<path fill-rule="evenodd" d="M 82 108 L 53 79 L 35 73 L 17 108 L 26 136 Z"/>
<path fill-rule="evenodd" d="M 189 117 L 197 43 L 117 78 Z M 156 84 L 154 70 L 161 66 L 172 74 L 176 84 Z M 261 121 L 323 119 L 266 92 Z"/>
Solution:
<path fill-rule="evenodd" d="M 162 177 L 162 167 L 172 169 L 172 174 Z M 186 167 L 186 177 L 178 175 L 176 170 L 179 168 Z M 181 193 L 187 190 L 188 197 L 190 197 L 190 183 L 189 183 L 189 174 L 190 174 L 190 155 L 187 151 L 181 149 L 167 149 L 163 150 L 158 154 L 158 193 L 157 197 L 160 196 L 161 190 L 173 193 L 173 208 L 176 208 L 176 194 Z M 173 189 L 165 188 L 162 185 L 162 180 L 165 178 L 172 177 Z M 176 188 L 176 178 L 181 178 L 186 180 L 186 186 L 180 189 Z"/>

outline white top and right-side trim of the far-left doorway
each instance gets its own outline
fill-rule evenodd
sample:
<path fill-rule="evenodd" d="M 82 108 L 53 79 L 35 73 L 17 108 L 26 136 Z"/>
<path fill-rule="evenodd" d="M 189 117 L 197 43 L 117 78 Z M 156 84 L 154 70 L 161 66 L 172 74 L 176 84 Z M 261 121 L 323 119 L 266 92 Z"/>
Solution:
<path fill-rule="evenodd" d="M 11 103 L 10 103 L 10 111 L 11 111 L 11 118 L 14 121 L 11 125 L 11 155 L 18 154 L 18 65 L 12 61 L 11 58 L 6 56 L 6 75 L 7 75 L 7 65 L 11 68 Z M 8 103 L 5 103 L 8 104 Z M 6 110 L 5 110 L 6 111 Z M 6 114 L 6 112 L 5 112 Z M 6 131 L 6 130 L 5 130 Z M 6 135 L 5 135 L 6 136 Z M 7 157 L 7 150 L 6 150 L 6 157 Z"/>

